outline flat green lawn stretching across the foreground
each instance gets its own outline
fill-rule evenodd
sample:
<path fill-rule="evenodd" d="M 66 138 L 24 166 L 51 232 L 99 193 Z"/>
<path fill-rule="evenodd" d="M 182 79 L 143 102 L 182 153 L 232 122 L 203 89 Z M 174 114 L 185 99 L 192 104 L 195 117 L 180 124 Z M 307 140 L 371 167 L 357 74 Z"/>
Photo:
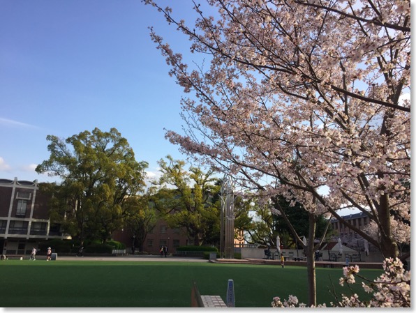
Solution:
<path fill-rule="evenodd" d="M 361 270 L 374 279 L 381 270 Z M 318 303 L 334 301 L 341 268 L 317 268 Z M 1 307 L 190 307 L 192 283 L 226 299 L 234 280 L 236 307 L 270 307 L 290 294 L 307 303 L 306 268 L 161 261 L 2 261 Z M 361 297 L 369 295 L 357 286 Z"/>

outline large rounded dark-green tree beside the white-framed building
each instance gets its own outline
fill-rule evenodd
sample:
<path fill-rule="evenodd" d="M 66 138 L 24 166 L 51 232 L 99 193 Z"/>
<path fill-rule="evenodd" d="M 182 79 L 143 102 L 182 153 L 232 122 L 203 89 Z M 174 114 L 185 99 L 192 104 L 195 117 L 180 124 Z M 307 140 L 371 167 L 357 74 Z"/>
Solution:
<path fill-rule="evenodd" d="M 51 216 L 61 219 L 65 231 L 81 241 L 86 236 L 106 241 L 126 217 L 138 214 L 134 196 L 144 190 L 147 162 L 135 160 L 115 128 L 46 139 L 50 158 L 36 171 L 61 179 L 49 188 L 54 196 Z"/>

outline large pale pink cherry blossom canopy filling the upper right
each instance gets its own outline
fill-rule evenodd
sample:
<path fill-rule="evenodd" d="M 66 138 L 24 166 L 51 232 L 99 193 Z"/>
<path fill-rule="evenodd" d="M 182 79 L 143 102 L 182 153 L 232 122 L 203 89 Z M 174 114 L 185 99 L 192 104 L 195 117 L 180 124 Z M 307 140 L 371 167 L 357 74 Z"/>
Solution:
<path fill-rule="evenodd" d="M 181 102 L 184 132 L 168 130 L 170 142 L 398 256 L 392 217 L 394 227 L 410 222 L 410 1 L 207 0 L 193 3 L 191 24 L 145 2 L 209 63 L 191 67 L 151 29 L 170 75 L 193 93 Z M 341 208 L 368 215 L 380 239 Z"/>

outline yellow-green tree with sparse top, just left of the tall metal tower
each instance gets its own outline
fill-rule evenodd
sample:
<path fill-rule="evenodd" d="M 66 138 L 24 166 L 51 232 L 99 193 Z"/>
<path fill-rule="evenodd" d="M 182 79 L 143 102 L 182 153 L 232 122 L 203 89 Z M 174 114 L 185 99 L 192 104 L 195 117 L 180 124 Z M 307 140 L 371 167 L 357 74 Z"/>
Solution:
<path fill-rule="evenodd" d="M 194 245 L 200 245 L 219 224 L 218 207 L 212 202 L 218 192 L 214 171 L 206 173 L 198 167 L 184 169 L 185 162 L 174 160 L 170 155 L 159 160 L 161 178 L 155 182 L 157 192 L 153 201 L 156 208 L 164 213 L 170 227 L 186 228 L 188 238 Z M 218 227 L 217 227 L 218 228 Z"/>

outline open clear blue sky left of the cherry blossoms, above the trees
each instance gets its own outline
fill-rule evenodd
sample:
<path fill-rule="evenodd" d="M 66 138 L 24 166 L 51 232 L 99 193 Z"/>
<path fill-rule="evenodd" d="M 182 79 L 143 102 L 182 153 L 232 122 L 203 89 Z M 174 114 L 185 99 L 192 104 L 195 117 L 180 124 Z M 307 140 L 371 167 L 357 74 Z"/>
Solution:
<path fill-rule="evenodd" d="M 159 1 L 181 16 L 192 2 Z M 117 128 L 136 160 L 184 160 L 163 128 L 181 130 L 181 88 L 149 38 L 188 39 L 140 0 L 0 0 L 0 178 L 56 181 L 34 171 L 46 136 Z"/>

